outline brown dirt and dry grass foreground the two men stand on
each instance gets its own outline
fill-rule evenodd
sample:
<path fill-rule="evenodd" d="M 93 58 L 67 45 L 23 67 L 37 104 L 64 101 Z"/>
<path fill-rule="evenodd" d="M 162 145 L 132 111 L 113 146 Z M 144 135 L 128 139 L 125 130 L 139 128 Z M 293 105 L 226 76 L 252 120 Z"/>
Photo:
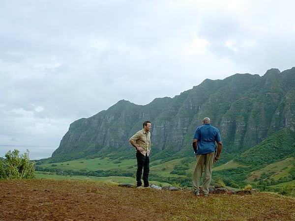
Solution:
<path fill-rule="evenodd" d="M 118 187 L 94 181 L 0 180 L 0 221 L 295 220 L 295 198 Z"/>

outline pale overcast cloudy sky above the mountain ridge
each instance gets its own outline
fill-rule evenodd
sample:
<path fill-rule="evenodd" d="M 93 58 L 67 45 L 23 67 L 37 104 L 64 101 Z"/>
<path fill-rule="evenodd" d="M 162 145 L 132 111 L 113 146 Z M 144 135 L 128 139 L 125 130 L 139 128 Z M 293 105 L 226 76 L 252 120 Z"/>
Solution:
<path fill-rule="evenodd" d="M 205 79 L 295 66 L 294 0 L 0 0 L 0 145 Z"/>

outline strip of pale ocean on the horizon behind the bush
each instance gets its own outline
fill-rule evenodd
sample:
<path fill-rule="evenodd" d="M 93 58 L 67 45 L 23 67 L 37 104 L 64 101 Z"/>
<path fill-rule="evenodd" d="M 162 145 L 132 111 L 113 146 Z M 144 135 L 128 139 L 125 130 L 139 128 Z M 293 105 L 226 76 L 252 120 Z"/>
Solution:
<path fill-rule="evenodd" d="M 0 157 L 8 152 L 8 150 L 17 149 L 21 154 L 29 150 L 30 160 L 40 160 L 44 158 L 51 157 L 52 153 L 57 149 L 57 147 L 52 146 L 21 146 L 21 145 L 0 145 Z"/>

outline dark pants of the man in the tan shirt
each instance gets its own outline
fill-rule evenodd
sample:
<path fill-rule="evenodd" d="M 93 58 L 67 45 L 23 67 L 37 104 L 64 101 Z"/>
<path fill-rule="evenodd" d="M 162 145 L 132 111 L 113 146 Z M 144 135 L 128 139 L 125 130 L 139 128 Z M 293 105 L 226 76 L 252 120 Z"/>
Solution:
<path fill-rule="evenodd" d="M 137 159 L 137 172 L 136 172 L 136 182 L 137 186 L 140 187 L 142 185 L 141 182 L 141 175 L 144 168 L 144 187 L 148 187 L 148 174 L 149 174 L 149 157 L 148 155 L 144 156 L 140 152 L 136 152 L 136 159 Z"/>

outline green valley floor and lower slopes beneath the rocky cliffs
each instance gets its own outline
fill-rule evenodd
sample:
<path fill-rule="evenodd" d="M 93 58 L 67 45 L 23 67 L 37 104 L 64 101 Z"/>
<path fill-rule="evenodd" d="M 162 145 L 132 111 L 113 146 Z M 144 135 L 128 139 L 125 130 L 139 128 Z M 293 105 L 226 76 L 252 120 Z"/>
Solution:
<path fill-rule="evenodd" d="M 242 153 L 238 158 L 213 167 L 212 185 L 222 180 L 227 186 L 242 188 L 251 184 L 262 190 L 274 189 L 274 185 L 295 180 L 295 136 L 289 129 L 272 134 L 260 144 Z M 278 154 L 280 151 L 281 154 Z M 38 161 L 36 169 L 51 171 L 56 175 L 120 176 L 134 179 L 136 159 L 90 158 L 64 162 L 51 159 Z M 253 163 L 259 161 L 260 163 Z M 153 160 L 151 156 L 150 179 L 171 185 L 191 186 L 195 157 L 173 160 Z M 40 176 L 40 175 L 39 175 Z M 118 180 L 118 179 L 117 179 Z"/>

